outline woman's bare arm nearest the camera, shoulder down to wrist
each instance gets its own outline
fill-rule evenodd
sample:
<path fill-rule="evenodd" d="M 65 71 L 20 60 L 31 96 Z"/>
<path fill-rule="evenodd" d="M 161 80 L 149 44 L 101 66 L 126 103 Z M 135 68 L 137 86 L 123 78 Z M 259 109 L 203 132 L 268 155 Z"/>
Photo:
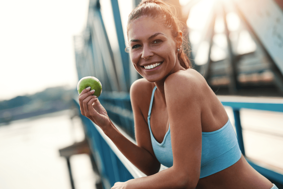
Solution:
<path fill-rule="evenodd" d="M 201 163 L 201 83 L 190 77 L 174 73 L 164 84 L 173 166 L 155 175 L 128 180 L 125 188 L 196 187 Z"/>

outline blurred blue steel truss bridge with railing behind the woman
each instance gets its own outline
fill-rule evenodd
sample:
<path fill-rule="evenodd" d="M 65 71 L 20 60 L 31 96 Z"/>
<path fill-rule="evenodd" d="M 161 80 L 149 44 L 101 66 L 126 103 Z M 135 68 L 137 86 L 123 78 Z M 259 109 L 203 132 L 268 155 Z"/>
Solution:
<path fill-rule="evenodd" d="M 79 79 L 95 76 L 100 80 L 101 104 L 119 131 L 135 143 L 129 90 L 141 76 L 125 52 L 127 38 L 121 15 L 127 12 L 126 5 L 118 0 L 111 0 L 108 6 L 105 2 L 90 1 L 87 26 L 81 36 L 74 36 L 78 76 Z M 283 169 L 246 156 L 240 116 L 242 109 L 283 112 L 282 1 L 190 0 L 182 5 L 180 2 L 170 1 L 179 13 L 182 11 L 178 16 L 185 20 L 184 33 L 188 34 L 191 48 L 188 56 L 194 69 L 205 77 L 222 104 L 232 109 L 238 143 L 248 163 L 283 188 Z M 139 1 L 128 3 L 132 9 Z M 110 16 L 106 17 L 105 12 Z M 110 20 L 112 30 L 107 26 Z M 79 110 L 78 96 L 74 97 L 74 104 Z M 115 182 L 146 176 L 97 125 L 80 112 L 78 115 L 84 123 L 95 170 L 101 177 L 100 187 L 111 188 Z M 282 123 L 278 124 L 282 127 Z M 163 169 L 166 167 L 160 168 Z"/>

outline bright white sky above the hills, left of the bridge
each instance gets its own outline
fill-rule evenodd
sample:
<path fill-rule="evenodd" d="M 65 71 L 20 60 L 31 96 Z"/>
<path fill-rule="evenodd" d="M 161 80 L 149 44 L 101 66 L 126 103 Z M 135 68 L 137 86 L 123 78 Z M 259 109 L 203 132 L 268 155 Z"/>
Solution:
<path fill-rule="evenodd" d="M 89 0 L 14 0 L 0 5 L 0 100 L 48 87 L 76 88 L 73 36 Z"/>

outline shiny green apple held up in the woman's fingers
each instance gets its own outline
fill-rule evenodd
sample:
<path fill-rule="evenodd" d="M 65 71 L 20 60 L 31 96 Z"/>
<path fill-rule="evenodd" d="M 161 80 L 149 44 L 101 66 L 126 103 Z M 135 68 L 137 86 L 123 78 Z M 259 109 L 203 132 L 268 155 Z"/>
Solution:
<path fill-rule="evenodd" d="M 101 92 L 102 92 L 102 86 L 100 81 L 93 76 L 87 76 L 87 77 L 83 77 L 79 80 L 78 82 L 78 93 L 81 94 L 82 90 L 84 90 L 85 88 L 90 87 L 90 91 L 91 90 L 95 90 L 94 92 L 94 96 L 99 97 Z"/>

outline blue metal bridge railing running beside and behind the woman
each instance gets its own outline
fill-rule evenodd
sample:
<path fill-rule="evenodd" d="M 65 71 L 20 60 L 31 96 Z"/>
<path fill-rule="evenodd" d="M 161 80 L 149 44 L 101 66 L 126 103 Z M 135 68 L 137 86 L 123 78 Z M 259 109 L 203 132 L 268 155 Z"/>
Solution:
<path fill-rule="evenodd" d="M 221 100 L 221 99 L 220 99 Z M 76 104 L 79 109 L 78 101 Z M 104 92 L 99 97 L 100 103 L 104 106 L 108 112 L 108 116 L 111 120 L 119 125 L 116 126 L 128 139 L 134 143 L 134 120 L 132 114 L 132 107 L 130 104 L 130 95 L 123 92 Z M 241 108 L 268 110 L 283 112 L 283 103 L 251 103 L 251 102 L 230 102 L 222 101 L 225 106 L 230 106 L 233 109 L 235 118 L 235 127 L 238 137 L 238 143 L 240 149 L 245 155 L 244 142 L 242 136 L 241 120 L 239 110 Z M 115 182 L 124 182 L 132 178 L 138 178 L 146 176 L 139 171 L 134 165 L 132 165 L 118 148 L 112 143 L 112 141 L 103 133 L 103 131 L 93 124 L 88 118 L 82 116 L 82 121 L 85 125 L 86 136 L 91 144 L 91 149 L 95 160 L 98 164 L 98 169 L 102 177 L 102 182 L 105 188 L 113 186 Z M 122 130 L 123 129 L 123 130 Z M 283 175 L 276 173 L 275 171 L 261 167 L 256 163 L 248 160 L 248 163 L 254 167 L 259 173 L 267 177 L 276 185 L 283 186 Z M 122 163 L 123 162 L 123 163 Z M 127 167 L 127 168 L 126 168 Z M 280 185 L 281 184 L 281 185 Z"/>

